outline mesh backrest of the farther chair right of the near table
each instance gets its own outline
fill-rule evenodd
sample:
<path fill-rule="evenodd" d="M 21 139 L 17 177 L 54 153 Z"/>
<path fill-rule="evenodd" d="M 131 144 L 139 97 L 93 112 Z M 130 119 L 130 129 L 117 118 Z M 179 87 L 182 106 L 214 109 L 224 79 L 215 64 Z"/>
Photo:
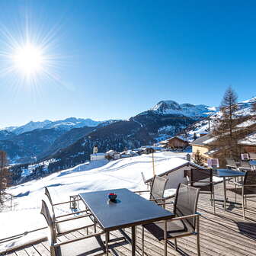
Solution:
<path fill-rule="evenodd" d="M 163 198 L 168 179 L 154 176 L 150 190 L 150 199 Z M 155 200 L 155 203 L 162 203 L 163 200 Z"/>

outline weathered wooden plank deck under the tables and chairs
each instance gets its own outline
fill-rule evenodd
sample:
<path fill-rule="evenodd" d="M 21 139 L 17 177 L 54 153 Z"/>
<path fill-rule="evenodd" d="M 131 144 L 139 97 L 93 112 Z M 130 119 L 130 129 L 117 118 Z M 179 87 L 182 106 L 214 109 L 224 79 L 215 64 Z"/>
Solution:
<path fill-rule="evenodd" d="M 229 187 L 229 186 L 228 186 Z M 216 186 L 216 199 L 222 199 L 222 184 Z M 229 200 L 234 197 L 227 192 Z M 241 197 L 238 197 L 238 201 Z M 201 255 L 232 255 L 245 256 L 256 255 L 256 198 L 248 199 L 246 210 L 247 220 L 243 220 L 242 209 L 233 203 L 228 203 L 228 210 L 222 208 L 222 203 L 216 203 L 216 215 L 213 215 L 213 207 L 210 206 L 210 195 L 201 194 L 198 212 L 200 218 L 200 248 Z M 170 209 L 171 210 L 171 209 Z M 130 229 L 126 229 L 127 235 L 131 235 Z M 59 241 L 79 237 L 85 234 L 85 230 L 73 232 L 59 237 Z M 120 232 L 111 232 L 110 238 L 120 237 Z M 163 244 L 155 240 L 149 232 L 145 236 L 146 255 L 163 255 Z M 116 255 L 130 255 L 131 245 L 121 241 L 113 247 Z M 137 227 L 137 255 L 141 255 L 141 228 Z M 195 236 L 178 239 L 178 251 L 174 251 L 168 245 L 168 255 L 197 255 Z M 47 242 L 41 242 L 13 251 L 8 256 L 50 256 Z M 72 256 L 72 255 L 70 255 Z"/>

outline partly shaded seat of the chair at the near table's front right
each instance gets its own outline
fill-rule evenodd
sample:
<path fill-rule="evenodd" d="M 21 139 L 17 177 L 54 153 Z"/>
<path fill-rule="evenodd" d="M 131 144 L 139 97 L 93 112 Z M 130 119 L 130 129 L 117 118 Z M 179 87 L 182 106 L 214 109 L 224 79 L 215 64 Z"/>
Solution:
<path fill-rule="evenodd" d="M 165 239 L 165 223 L 164 222 L 155 222 L 151 224 L 143 225 L 158 241 Z M 193 233 L 194 230 L 182 220 L 174 220 L 167 222 L 167 238 L 175 238 L 180 235 L 187 235 Z"/>

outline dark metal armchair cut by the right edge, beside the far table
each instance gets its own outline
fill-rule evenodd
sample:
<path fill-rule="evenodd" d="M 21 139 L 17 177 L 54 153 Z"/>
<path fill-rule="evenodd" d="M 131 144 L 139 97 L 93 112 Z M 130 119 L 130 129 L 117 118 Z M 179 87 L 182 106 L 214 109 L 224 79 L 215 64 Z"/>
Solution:
<path fill-rule="evenodd" d="M 230 191 L 242 196 L 242 211 L 245 219 L 245 208 L 247 207 L 247 196 L 256 196 L 256 171 L 246 171 L 244 181 L 234 182 L 235 188 L 229 188 Z M 237 187 L 238 186 L 238 187 Z"/>

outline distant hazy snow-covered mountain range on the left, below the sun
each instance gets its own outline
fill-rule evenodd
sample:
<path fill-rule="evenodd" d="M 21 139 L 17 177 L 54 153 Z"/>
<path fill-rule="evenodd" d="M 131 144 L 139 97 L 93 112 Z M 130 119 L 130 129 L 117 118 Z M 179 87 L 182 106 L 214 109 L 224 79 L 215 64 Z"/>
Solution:
<path fill-rule="evenodd" d="M 30 121 L 29 123 L 26 123 L 23 126 L 11 126 L 5 128 L 8 132 L 15 133 L 16 135 L 21 133 L 27 133 L 32 130 L 36 129 L 61 129 L 61 130 L 71 130 L 72 128 L 80 128 L 83 126 L 98 126 L 98 124 L 101 122 L 91 120 L 90 118 L 82 119 L 82 118 L 75 118 L 75 117 L 69 117 L 64 120 L 56 120 L 56 121 L 50 121 L 50 120 L 44 120 L 42 122 L 33 122 Z"/>

